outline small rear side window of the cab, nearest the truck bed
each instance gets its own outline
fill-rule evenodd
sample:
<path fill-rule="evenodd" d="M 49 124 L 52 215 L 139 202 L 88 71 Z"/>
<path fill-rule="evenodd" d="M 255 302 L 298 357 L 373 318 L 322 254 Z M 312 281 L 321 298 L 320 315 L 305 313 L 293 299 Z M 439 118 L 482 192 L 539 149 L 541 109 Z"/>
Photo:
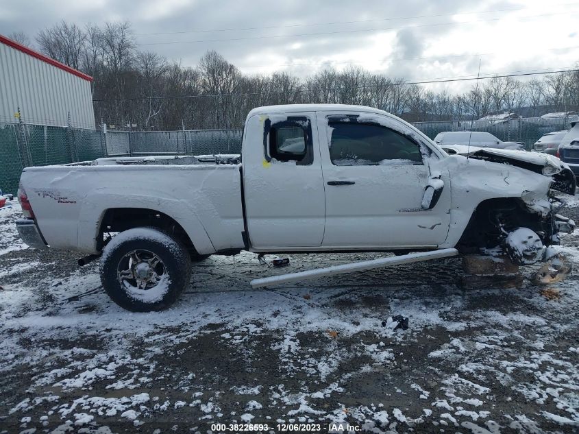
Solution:
<path fill-rule="evenodd" d="M 307 117 L 288 117 L 284 121 L 264 122 L 264 158 L 271 162 L 295 161 L 311 165 L 313 161 L 312 125 Z"/>

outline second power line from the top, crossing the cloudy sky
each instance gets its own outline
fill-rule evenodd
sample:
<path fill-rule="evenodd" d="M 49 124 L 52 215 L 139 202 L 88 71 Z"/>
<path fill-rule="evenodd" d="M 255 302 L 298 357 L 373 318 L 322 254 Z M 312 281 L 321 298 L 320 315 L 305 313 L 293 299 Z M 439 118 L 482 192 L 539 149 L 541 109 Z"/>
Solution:
<path fill-rule="evenodd" d="M 556 12 L 553 14 L 538 14 L 538 15 L 527 15 L 519 16 L 519 19 L 524 18 L 536 18 L 538 16 L 554 16 L 569 14 L 569 11 Z M 434 27 L 437 25 L 456 25 L 456 24 L 471 24 L 471 23 L 485 23 L 491 21 L 500 21 L 502 18 L 494 19 L 482 19 L 482 20 L 471 20 L 471 21 L 451 21 L 449 23 L 429 23 L 429 24 L 417 24 L 417 25 L 405 25 L 401 27 L 384 27 L 379 29 L 354 29 L 354 30 L 336 30 L 334 32 L 316 32 L 316 33 L 301 33 L 301 34 L 289 34 L 289 35 L 274 35 L 274 36 L 249 36 L 245 38 L 221 38 L 221 39 L 199 39 L 199 40 L 173 40 L 164 43 L 144 43 L 136 44 L 138 46 L 145 45 L 175 45 L 175 44 L 193 44 L 193 43 L 214 43 L 214 42 L 225 42 L 225 41 L 239 41 L 239 40 L 257 40 L 257 39 L 273 39 L 273 38 L 293 38 L 296 36 L 320 36 L 320 35 L 332 35 L 332 34 L 345 34 L 345 33 L 361 33 L 361 32 L 382 32 L 384 30 L 399 30 L 399 29 L 411 29 L 417 27 Z"/>

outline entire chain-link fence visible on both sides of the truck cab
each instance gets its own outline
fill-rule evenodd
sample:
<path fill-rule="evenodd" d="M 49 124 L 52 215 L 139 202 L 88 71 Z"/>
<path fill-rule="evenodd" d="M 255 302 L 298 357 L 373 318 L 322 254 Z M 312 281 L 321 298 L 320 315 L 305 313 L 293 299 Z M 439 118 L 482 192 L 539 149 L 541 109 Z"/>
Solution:
<path fill-rule="evenodd" d="M 416 122 L 430 138 L 446 131 L 484 131 L 526 149 L 547 132 L 569 130 L 574 119 Z M 62 165 L 106 156 L 240 154 L 241 130 L 130 132 L 0 123 L 0 189 L 16 193 L 23 167 Z"/>

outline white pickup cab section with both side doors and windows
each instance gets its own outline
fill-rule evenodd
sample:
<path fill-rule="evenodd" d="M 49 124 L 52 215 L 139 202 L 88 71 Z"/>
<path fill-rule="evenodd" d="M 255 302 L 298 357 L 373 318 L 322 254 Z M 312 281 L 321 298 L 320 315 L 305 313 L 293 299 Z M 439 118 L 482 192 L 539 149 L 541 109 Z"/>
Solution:
<path fill-rule="evenodd" d="M 243 138 L 247 234 L 255 252 L 436 248 L 450 189 L 421 207 L 445 158 L 404 121 L 359 106 L 252 110 Z M 441 173 L 447 182 L 447 173 Z M 402 193 L 404 192 L 404 193 Z"/>

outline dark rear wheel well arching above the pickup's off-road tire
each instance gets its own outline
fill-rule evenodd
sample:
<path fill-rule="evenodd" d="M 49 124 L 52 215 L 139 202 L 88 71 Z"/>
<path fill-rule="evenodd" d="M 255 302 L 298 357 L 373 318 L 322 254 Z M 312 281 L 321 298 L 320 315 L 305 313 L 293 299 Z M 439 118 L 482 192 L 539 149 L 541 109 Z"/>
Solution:
<path fill-rule="evenodd" d="M 99 228 L 97 250 L 103 249 L 106 232 L 123 232 L 123 230 L 143 226 L 164 230 L 171 237 L 183 243 L 190 254 L 197 254 L 193 241 L 189 238 L 186 230 L 173 217 L 148 208 L 109 208 L 106 210 Z"/>

